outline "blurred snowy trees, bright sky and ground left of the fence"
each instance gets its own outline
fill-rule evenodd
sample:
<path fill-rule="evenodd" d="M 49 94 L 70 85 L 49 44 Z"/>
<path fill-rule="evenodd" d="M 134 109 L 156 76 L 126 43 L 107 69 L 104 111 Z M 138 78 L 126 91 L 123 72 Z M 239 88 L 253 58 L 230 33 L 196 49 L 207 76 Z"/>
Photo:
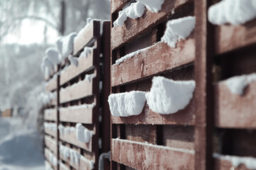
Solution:
<path fill-rule="evenodd" d="M 87 18 L 110 19 L 110 1 L 0 1 L 0 169 L 44 169 L 41 61 Z"/>

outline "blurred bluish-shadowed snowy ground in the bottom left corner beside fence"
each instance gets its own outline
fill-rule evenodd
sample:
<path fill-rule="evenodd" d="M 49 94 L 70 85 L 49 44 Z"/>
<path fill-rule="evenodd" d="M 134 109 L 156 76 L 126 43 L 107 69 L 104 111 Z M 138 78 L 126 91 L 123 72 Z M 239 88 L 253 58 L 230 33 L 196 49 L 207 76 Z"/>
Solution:
<path fill-rule="evenodd" d="M 21 118 L 0 117 L 0 170 L 43 170 L 41 145 L 38 132 Z"/>

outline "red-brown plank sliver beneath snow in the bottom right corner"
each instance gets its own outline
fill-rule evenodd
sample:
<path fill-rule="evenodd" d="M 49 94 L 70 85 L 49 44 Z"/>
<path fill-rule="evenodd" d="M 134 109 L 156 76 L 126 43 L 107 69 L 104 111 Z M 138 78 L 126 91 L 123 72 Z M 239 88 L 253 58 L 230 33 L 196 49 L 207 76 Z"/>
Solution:
<path fill-rule="evenodd" d="M 248 169 L 244 164 L 240 164 L 238 167 L 233 166 L 232 162 L 225 160 L 225 159 L 214 159 L 214 169 L 215 170 L 252 170 Z"/>

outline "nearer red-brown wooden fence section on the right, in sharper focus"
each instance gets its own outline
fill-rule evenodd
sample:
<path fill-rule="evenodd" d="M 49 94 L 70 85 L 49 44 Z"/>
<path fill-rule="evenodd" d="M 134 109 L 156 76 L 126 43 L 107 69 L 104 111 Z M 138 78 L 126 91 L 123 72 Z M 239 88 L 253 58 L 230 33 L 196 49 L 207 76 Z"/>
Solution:
<path fill-rule="evenodd" d="M 112 0 L 111 5 L 112 94 L 150 91 L 154 76 L 195 80 L 196 89 L 175 114 L 154 113 L 146 103 L 139 115 L 112 116 L 111 169 L 250 169 L 244 162 L 235 167 L 231 159 L 256 156 L 255 82 L 240 96 L 224 80 L 256 72 L 256 20 L 213 26 L 207 18 L 213 1 L 166 0 L 158 13 L 146 9 L 142 17 L 113 26 L 128 3 Z M 176 48 L 160 42 L 166 21 L 184 16 L 196 16 L 191 35 Z"/>

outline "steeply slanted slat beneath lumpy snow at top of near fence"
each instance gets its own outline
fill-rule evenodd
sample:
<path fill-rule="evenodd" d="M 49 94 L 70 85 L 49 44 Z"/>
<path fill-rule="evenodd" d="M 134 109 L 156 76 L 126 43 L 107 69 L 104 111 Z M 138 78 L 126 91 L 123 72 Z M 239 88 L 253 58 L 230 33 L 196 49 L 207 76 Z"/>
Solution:
<path fill-rule="evenodd" d="M 124 43 L 130 42 L 138 38 L 139 34 L 146 33 L 154 26 L 166 20 L 171 16 L 174 9 L 175 11 L 188 5 L 188 2 L 192 0 L 174 0 L 164 1 L 161 11 L 158 13 L 152 13 L 149 10 L 145 10 L 144 15 L 136 20 L 127 18 L 125 26 L 115 26 L 111 30 L 111 49 L 114 50 L 120 47 Z"/>

